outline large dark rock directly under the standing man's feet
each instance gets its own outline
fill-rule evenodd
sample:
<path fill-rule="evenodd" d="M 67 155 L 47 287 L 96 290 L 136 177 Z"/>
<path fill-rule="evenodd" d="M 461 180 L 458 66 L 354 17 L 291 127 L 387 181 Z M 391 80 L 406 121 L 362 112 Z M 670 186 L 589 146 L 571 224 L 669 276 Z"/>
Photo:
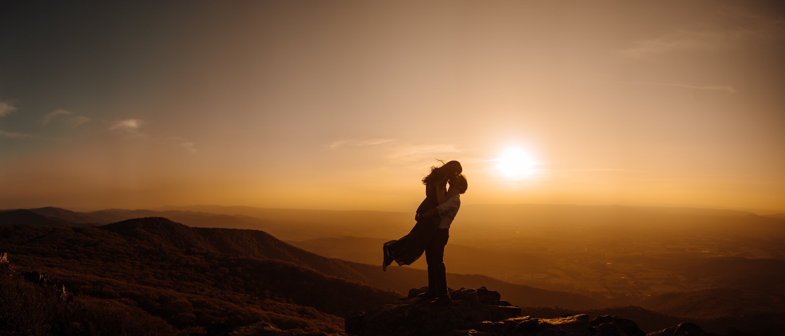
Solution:
<path fill-rule="evenodd" d="M 417 298 L 426 290 L 428 287 L 410 290 L 407 298 L 369 312 L 350 312 L 345 320 L 346 332 L 360 336 L 441 335 L 483 321 L 520 315 L 519 307 L 501 301 L 498 292 L 485 287 L 450 290 L 451 305 L 434 305 L 433 299 Z"/>

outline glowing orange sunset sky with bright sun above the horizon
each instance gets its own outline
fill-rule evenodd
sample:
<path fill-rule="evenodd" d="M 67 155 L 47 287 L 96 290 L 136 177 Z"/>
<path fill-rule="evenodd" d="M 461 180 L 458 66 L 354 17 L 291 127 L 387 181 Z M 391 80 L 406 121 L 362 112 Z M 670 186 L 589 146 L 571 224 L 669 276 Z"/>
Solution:
<path fill-rule="evenodd" d="M 780 2 L 3 2 L 0 208 L 785 209 Z M 520 168 L 516 168 L 520 167 Z"/>

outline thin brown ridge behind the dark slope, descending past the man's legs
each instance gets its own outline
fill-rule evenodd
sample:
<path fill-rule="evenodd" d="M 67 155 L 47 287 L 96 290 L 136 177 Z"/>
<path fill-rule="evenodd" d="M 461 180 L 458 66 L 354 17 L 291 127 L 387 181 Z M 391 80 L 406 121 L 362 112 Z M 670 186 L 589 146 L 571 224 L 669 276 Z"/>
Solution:
<path fill-rule="evenodd" d="M 137 218 L 104 225 L 100 228 L 117 232 L 123 236 L 137 237 L 140 234 L 138 232 L 140 230 L 139 225 L 148 221 L 153 220 Z M 427 279 L 425 271 L 420 269 L 394 267 L 388 268 L 388 272 L 382 272 L 381 266 L 378 265 L 366 265 L 322 257 L 318 254 L 312 254 L 292 247 L 290 244 L 283 243 L 279 239 L 261 231 L 189 228 L 168 219 L 165 221 L 165 218 L 156 219 L 155 222 L 157 225 L 150 223 L 143 225 L 144 237 L 147 239 L 146 244 L 154 246 L 173 245 L 180 249 L 191 250 L 195 249 L 195 246 L 199 246 L 198 250 L 217 249 L 221 253 L 232 256 L 276 258 L 283 261 L 296 262 L 299 265 L 316 269 L 329 276 L 353 279 L 378 287 L 398 290 L 399 292 L 419 286 L 423 279 Z M 155 235 L 151 235 L 150 232 L 155 232 Z M 203 237 L 195 235 L 193 232 L 210 232 L 210 235 Z M 202 235 L 205 234 L 203 233 Z M 167 240 L 162 241 L 162 237 Z M 208 246 L 210 247 L 208 248 Z M 583 295 L 505 283 L 487 276 L 451 273 L 448 279 L 453 287 L 480 287 L 477 285 L 482 284 L 482 286 L 494 286 L 500 290 L 506 290 L 509 301 L 519 305 L 560 305 L 572 308 L 592 308 L 603 305 L 603 302 Z"/>

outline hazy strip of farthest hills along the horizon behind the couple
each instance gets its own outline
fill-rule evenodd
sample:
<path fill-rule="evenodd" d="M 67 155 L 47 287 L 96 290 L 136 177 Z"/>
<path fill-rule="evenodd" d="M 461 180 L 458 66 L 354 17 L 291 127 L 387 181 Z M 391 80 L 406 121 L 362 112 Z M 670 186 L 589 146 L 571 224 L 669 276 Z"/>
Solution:
<path fill-rule="evenodd" d="M 27 209 L 35 214 L 74 225 L 105 225 L 137 217 L 166 217 L 189 226 L 214 228 L 261 229 L 279 239 L 301 241 L 327 237 L 356 236 L 394 239 L 403 236 L 414 225 L 412 214 L 369 210 L 303 210 L 265 209 L 253 206 L 163 206 L 154 210 L 107 209 L 75 212 L 56 207 Z M 8 212 L 9 210 L 0 210 Z M 9 216 L 9 215 L 6 215 Z M 758 216 L 741 210 L 716 210 L 666 206 L 572 206 L 559 204 L 469 205 L 464 206 L 455 230 L 473 238 L 494 239 L 509 236 L 531 225 L 575 225 L 576 227 L 611 227 L 623 224 L 625 229 L 648 228 L 665 225 L 666 228 L 692 228 L 707 226 L 712 230 L 726 226 L 735 228 L 739 220 L 732 218 L 758 218 L 781 220 L 785 214 Z M 0 219 L 2 219 L 0 215 Z M 5 222 L 39 225 L 42 218 L 9 218 Z M 493 225 L 488 225 L 493 218 Z M 636 223 L 636 225 L 628 225 Z M 714 223 L 720 225 L 714 225 Z M 782 225 L 782 221 L 772 221 Z M 51 226 L 51 225 L 49 225 Z"/>

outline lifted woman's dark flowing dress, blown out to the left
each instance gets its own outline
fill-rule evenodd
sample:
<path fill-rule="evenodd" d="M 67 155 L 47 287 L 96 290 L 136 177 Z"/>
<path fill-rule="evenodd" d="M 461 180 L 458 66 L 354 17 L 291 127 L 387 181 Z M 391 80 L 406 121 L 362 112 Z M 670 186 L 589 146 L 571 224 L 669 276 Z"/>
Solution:
<path fill-rule="evenodd" d="M 439 202 L 436 201 L 436 188 L 440 187 L 436 186 L 436 184 L 425 184 L 425 199 L 417 207 L 418 214 L 422 214 L 439 205 Z M 396 261 L 399 266 L 411 265 L 411 263 L 417 261 L 425 252 L 425 248 L 428 247 L 433 239 L 433 235 L 436 234 L 439 221 L 439 216 L 421 218 L 414 225 L 414 228 L 411 228 L 408 235 L 384 243 L 390 258 Z"/>

